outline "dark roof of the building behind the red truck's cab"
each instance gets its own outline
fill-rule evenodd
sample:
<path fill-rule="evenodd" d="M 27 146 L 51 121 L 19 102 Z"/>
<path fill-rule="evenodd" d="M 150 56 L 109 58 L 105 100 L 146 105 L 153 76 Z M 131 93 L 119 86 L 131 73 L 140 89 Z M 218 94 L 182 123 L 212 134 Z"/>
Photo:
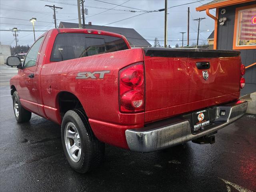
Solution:
<path fill-rule="evenodd" d="M 60 22 L 59 28 L 79 28 L 77 23 L 68 23 L 68 22 Z M 112 33 L 118 33 L 126 37 L 130 46 L 134 47 L 151 47 L 151 44 L 147 42 L 136 30 L 132 28 L 122 28 L 122 27 L 110 27 L 110 26 L 100 26 L 100 25 L 92 25 L 86 24 L 85 28 L 87 29 L 95 29 L 108 31 Z"/>

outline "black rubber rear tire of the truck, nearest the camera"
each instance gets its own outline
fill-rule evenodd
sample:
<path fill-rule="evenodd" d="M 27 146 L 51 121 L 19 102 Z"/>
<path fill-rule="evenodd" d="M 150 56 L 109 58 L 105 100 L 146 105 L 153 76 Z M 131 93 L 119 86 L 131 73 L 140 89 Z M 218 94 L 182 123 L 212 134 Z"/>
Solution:
<path fill-rule="evenodd" d="M 68 129 L 70 122 L 75 126 L 78 136 L 80 137 L 80 143 L 78 145 L 81 147 L 81 152 L 80 159 L 76 159 L 77 162 L 72 159 L 72 155 L 69 154 L 70 150 L 68 150 L 68 146 L 66 146 L 66 144 L 70 142 L 70 139 L 67 139 L 65 129 Z M 66 141 L 65 138 L 68 141 Z M 94 136 L 83 109 L 74 109 L 66 112 L 61 125 L 61 139 L 64 154 L 68 163 L 75 171 L 86 173 L 96 168 L 102 162 L 104 158 L 105 144 L 100 142 Z M 77 143 L 75 142 L 75 139 L 73 140 L 73 145 L 76 145 Z M 69 146 L 71 146 L 71 144 Z"/>

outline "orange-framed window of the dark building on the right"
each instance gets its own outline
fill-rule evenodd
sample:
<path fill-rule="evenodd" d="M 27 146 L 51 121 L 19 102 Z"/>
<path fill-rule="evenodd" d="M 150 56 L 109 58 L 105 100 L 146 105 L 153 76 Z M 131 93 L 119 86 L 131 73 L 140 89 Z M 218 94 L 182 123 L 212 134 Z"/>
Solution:
<path fill-rule="evenodd" d="M 256 49 L 256 7 L 236 8 L 233 49 Z"/>

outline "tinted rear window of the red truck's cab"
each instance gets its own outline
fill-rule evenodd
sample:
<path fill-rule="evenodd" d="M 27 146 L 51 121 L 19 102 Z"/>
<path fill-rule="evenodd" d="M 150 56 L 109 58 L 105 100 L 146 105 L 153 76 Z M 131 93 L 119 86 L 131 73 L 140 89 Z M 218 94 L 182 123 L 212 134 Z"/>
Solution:
<path fill-rule="evenodd" d="M 128 49 L 126 43 L 118 37 L 60 33 L 55 39 L 50 61 L 64 61 L 125 49 Z"/>

